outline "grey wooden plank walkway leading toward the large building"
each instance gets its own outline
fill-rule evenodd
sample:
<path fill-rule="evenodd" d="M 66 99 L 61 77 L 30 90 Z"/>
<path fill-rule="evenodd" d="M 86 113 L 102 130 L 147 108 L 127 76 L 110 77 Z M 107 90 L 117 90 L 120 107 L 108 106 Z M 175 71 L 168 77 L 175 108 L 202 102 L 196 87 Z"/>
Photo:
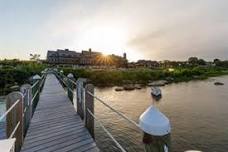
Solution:
<path fill-rule="evenodd" d="M 63 87 L 48 74 L 21 152 L 97 152 Z"/>

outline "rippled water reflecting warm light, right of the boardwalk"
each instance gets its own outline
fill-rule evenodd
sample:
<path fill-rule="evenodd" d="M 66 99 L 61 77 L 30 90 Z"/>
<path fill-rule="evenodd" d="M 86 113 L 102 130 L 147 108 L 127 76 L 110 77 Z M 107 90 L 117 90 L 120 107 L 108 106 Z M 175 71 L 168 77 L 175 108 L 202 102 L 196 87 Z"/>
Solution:
<path fill-rule="evenodd" d="M 215 81 L 225 85 L 215 86 Z M 228 151 L 228 76 L 170 84 L 161 90 L 163 97 L 156 106 L 170 119 L 173 151 Z M 114 87 L 97 88 L 95 93 L 135 121 L 152 103 L 150 88 L 123 92 L 116 92 Z M 95 114 L 124 148 L 142 151 L 141 133 L 133 125 L 125 123 L 98 101 Z M 111 150 L 114 144 L 99 127 L 96 127 L 96 134 L 100 147 L 110 148 L 105 151 L 116 151 Z"/>

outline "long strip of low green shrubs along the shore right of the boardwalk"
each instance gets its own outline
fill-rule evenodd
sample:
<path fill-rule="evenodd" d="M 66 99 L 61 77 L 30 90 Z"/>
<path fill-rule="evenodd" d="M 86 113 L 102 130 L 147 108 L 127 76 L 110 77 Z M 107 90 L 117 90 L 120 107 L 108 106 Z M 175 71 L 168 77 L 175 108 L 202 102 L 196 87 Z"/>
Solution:
<path fill-rule="evenodd" d="M 174 82 L 205 79 L 209 76 L 228 74 L 224 68 L 195 66 L 188 68 L 168 69 L 125 69 L 125 70 L 93 70 L 62 68 L 64 74 L 74 74 L 75 78 L 88 78 L 97 86 L 122 85 L 125 83 L 147 84 L 153 80 L 171 78 Z"/>

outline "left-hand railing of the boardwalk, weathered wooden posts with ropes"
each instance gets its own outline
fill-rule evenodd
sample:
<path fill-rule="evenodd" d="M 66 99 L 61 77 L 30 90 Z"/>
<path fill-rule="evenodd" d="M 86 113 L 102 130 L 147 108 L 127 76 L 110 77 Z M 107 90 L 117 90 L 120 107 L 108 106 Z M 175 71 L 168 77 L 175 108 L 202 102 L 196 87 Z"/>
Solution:
<path fill-rule="evenodd" d="M 37 75 L 38 76 L 38 75 Z M 15 151 L 19 152 L 23 139 L 29 127 L 30 120 L 39 101 L 45 74 L 42 77 L 34 77 L 33 85 L 24 84 L 19 91 L 11 92 L 6 97 L 6 112 L 0 117 L 0 121 L 6 119 L 6 136 L 15 138 Z M 36 79 L 37 78 L 37 79 Z"/>

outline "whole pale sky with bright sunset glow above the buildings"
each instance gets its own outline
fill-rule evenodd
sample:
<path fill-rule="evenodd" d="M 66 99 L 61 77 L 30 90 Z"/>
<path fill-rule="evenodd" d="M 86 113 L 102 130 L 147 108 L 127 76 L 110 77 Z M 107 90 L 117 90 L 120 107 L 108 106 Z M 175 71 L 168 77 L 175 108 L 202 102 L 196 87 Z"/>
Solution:
<path fill-rule="evenodd" d="M 227 0 L 0 0 L 0 59 L 69 48 L 228 59 Z"/>

